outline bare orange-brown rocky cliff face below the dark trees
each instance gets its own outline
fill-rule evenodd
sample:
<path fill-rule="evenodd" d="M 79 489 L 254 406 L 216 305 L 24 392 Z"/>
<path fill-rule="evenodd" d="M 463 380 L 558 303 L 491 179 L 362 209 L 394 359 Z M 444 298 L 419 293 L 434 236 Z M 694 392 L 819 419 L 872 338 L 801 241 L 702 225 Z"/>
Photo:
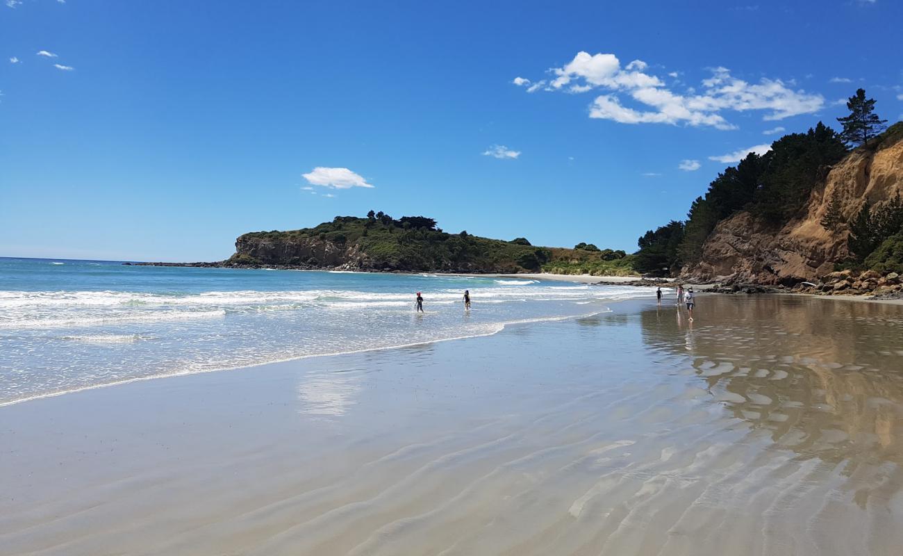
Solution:
<path fill-rule="evenodd" d="M 903 194 L 903 140 L 876 151 L 859 149 L 835 165 L 815 187 L 803 211 L 780 229 L 749 212 L 721 221 L 703 245 L 702 261 L 684 268 L 686 279 L 790 285 L 830 273 L 847 259 L 849 230 L 821 224 L 834 196 L 842 221 L 850 221 L 863 201 L 881 203 Z"/>

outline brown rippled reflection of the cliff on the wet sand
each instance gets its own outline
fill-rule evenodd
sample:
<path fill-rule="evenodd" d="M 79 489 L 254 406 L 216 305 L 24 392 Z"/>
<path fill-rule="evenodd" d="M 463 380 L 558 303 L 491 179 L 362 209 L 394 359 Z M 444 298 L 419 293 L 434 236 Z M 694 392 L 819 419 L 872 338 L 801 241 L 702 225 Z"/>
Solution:
<path fill-rule="evenodd" d="M 644 342 L 689 353 L 707 391 L 799 457 L 844 461 L 849 473 L 903 461 L 897 306 L 777 296 L 703 301 L 695 330 L 642 312 Z"/>

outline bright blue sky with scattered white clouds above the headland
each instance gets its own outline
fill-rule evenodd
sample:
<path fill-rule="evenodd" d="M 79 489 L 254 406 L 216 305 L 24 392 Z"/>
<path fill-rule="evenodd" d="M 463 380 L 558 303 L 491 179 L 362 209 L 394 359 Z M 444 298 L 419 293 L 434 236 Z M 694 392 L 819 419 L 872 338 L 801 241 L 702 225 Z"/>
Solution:
<path fill-rule="evenodd" d="M 889 0 L 2 2 L 0 256 L 224 259 L 371 208 L 635 250 L 857 87 L 903 113 Z"/>

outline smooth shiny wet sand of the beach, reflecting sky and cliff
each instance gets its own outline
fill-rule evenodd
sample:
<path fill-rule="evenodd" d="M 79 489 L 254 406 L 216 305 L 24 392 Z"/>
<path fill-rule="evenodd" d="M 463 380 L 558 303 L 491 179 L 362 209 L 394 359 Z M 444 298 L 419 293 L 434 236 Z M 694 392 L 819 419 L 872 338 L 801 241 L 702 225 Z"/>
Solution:
<path fill-rule="evenodd" d="M 903 308 L 610 308 L 0 408 L 0 554 L 899 554 Z"/>

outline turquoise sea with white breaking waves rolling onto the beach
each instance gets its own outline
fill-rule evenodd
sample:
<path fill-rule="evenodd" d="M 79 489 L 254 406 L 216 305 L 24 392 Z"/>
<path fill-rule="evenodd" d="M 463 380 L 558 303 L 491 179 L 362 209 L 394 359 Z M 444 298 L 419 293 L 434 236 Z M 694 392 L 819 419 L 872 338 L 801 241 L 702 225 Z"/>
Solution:
<path fill-rule="evenodd" d="M 461 297 L 470 289 L 473 307 Z M 414 313 L 424 295 L 425 314 Z M 489 335 L 648 288 L 0 258 L 0 404 L 116 382 Z"/>

